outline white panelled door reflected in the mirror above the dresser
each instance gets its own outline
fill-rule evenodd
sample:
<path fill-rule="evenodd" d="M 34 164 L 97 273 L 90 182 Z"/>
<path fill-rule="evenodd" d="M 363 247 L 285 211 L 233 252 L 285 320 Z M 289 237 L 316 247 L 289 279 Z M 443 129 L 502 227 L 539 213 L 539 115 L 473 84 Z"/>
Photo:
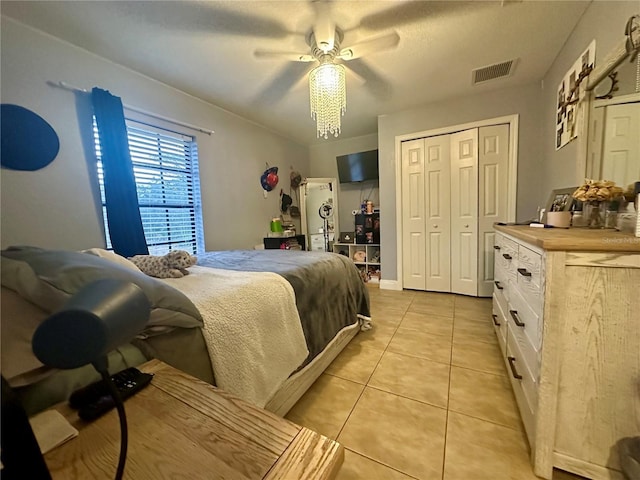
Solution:
<path fill-rule="evenodd" d="M 638 103 L 608 105 L 602 149 L 602 177 L 626 187 L 640 178 Z"/>

